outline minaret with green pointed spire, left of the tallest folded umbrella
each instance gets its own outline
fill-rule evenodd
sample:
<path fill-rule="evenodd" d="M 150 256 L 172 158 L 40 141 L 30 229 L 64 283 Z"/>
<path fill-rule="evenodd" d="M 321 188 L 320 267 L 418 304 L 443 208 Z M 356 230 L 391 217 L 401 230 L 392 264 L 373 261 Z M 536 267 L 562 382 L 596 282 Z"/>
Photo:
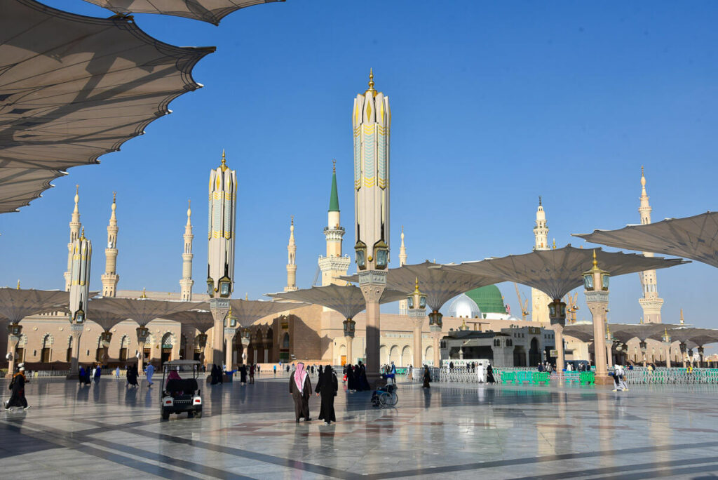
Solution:
<path fill-rule="evenodd" d="M 327 285 L 346 285 L 338 280 L 347 274 L 351 259 L 342 257 L 342 237 L 344 228 L 340 224 L 339 194 L 337 193 L 337 162 L 332 160 L 332 190 L 329 197 L 329 213 L 327 226 L 324 229 L 327 238 L 327 256 L 319 257 L 319 267 L 322 270 L 322 287 Z"/>

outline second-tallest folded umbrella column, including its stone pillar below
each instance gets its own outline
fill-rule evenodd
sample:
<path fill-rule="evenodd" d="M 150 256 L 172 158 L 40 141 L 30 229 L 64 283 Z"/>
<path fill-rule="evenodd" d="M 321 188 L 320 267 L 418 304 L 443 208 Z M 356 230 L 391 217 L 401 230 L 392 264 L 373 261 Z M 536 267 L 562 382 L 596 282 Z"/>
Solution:
<path fill-rule="evenodd" d="M 227 166 L 223 151 L 222 165 L 210 172 L 210 228 L 207 252 L 207 293 L 210 295 L 210 312 L 215 320 L 212 362 L 220 366 L 225 336 L 225 317 L 229 313 L 229 297 L 232 295 L 234 282 L 236 216 L 237 173 Z M 230 347 L 227 350 L 231 352 Z"/>

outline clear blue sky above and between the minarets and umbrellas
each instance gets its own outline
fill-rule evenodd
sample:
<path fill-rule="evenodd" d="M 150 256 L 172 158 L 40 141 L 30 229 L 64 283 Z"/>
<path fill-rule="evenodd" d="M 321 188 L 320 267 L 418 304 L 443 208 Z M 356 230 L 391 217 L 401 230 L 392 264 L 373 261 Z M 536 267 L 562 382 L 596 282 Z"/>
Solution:
<path fill-rule="evenodd" d="M 110 15 L 79 0 L 45 3 Z M 538 195 L 559 246 L 582 243 L 572 233 L 638 223 L 641 165 L 654 221 L 716 208 L 715 2 L 288 0 L 219 27 L 135 19 L 164 42 L 215 45 L 194 70 L 205 88 L 101 165 L 70 169 L 44 198 L 0 216 L 0 285 L 62 287 L 79 183 L 93 287 L 117 190 L 119 288 L 179 290 L 192 199 L 202 291 L 207 179 L 224 148 L 240 185 L 235 295 L 284 287 L 292 215 L 297 282 L 309 287 L 325 251 L 332 158 L 345 253 L 353 245 L 350 111 L 370 67 L 393 114 L 393 266 L 402 224 L 410 263 L 530 251 Z M 689 323 L 714 325 L 716 277 L 695 263 L 658 272 L 664 322 L 684 308 Z M 518 310 L 513 285 L 500 289 Z M 611 290 L 610 320 L 638 322 L 638 275 Z M 588 317 L 583 307 L 579 319 Z"/>

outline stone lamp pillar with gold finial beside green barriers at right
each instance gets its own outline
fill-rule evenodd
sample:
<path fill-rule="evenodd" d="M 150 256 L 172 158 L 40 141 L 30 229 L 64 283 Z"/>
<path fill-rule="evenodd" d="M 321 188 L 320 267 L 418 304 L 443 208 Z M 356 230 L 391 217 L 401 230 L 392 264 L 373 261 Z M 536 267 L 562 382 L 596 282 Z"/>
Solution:
<path fill-rule="evenodd" d="M 606 368 L 606 333 L 604 331 L 606 312 L 608 309 L 609 273 L 598 267 L 596 251 L 593 251 L 593 267 L 584 272 L 584 292 L 586 303 L 593 317 L 593 342 L 596 355 L 596 384 L 609 384 Z"/>

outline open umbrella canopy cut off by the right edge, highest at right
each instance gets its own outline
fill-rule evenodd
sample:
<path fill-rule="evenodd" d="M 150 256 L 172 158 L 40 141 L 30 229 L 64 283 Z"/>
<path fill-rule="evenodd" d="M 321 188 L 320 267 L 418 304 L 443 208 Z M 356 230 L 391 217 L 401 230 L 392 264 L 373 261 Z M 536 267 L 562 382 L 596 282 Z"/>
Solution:
<path fill-rule="evenodd" d="M 574 236 L 594 244 L 675 255 L 718 267 L 718 212 Z"/>

